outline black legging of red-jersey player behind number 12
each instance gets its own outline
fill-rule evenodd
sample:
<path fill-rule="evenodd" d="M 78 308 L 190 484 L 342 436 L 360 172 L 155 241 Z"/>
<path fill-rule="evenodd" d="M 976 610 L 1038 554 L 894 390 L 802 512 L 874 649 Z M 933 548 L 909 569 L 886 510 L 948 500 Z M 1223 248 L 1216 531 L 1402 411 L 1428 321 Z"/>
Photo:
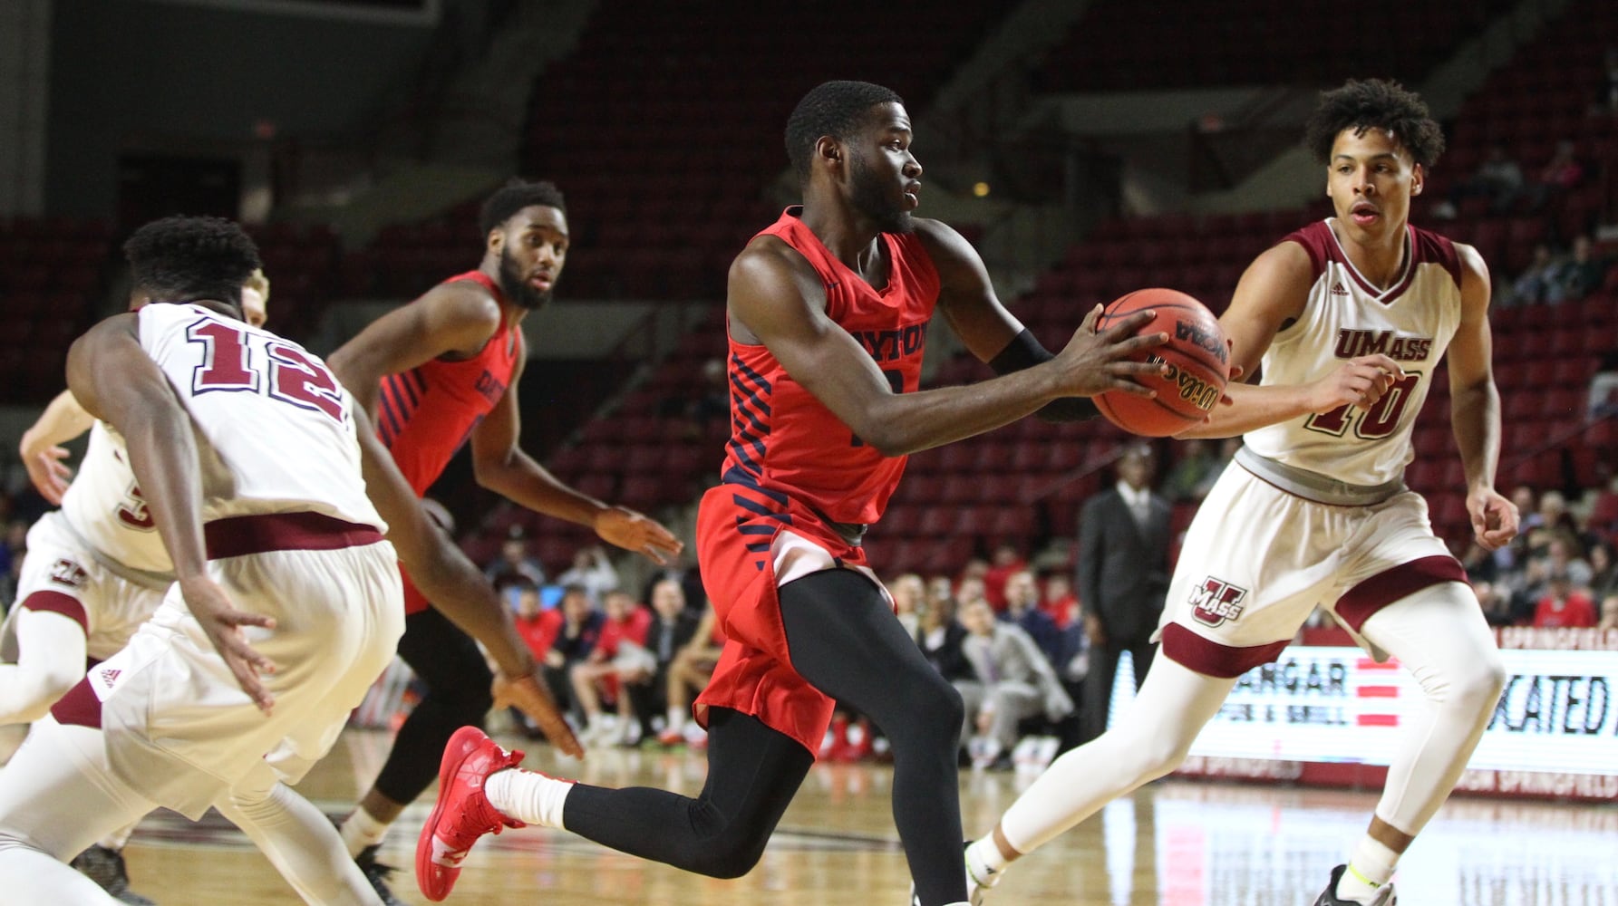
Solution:
<path fill-rule="evenodd" d="M 493 675 L 471 636 L 437 610 L 404 616 L 400 657 L 416 671 L 426 694 L 400 726 L 375 788 L 395 802 L 409 804 L 438 778 L 438 762 L 450 736 L 461 726 L 482 726 L 493 707 Z"/>

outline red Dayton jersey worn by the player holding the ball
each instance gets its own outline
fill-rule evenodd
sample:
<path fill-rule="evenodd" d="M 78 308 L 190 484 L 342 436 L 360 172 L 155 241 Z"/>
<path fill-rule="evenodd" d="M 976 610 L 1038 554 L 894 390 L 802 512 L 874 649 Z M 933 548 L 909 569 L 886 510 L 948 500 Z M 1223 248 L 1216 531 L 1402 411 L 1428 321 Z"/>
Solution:
<path fill-rule="evenodd" d="M 938 272 L 916 235 L 883 233 L 888 283 L 875 290 L 840 262 L 790 207 L 760 236 L 798 249 L 825 283 L 825 314 L 854 337 L 895 392 L 914 392 Z M 904 456 L 883 456 L 786 374 L 764 345 L 730 340 L 731 437 L 723 481 L 785 493 L 835 523 L 875 523 Z"/>

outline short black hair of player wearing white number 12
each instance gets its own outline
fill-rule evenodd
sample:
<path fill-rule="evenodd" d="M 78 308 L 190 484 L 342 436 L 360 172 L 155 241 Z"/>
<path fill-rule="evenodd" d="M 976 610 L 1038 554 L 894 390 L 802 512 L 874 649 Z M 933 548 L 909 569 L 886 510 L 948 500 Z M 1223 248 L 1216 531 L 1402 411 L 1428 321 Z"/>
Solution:
<path fill-rule="evenodd" d="M 223 217 L 165 217 L 123 244 L 136 286 L 163 301 L 241 304 L 241 285 L 262 267 L 259 246 Z"/>

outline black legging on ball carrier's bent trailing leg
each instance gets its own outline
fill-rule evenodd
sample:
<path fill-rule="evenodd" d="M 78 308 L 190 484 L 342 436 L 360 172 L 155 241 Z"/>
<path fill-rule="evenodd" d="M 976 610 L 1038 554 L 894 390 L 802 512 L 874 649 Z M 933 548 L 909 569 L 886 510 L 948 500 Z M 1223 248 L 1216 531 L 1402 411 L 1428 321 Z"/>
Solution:
<path fill-rule="evenodd" d="M 814 756 L 756 717 L 709 709 L 709 773 L 691 799 L 665 790 L 579 783 L 561 823 L 613 849 L 709 877 L 748 874 Z M 959 843 L 956 843 L 959 846 Z"/>

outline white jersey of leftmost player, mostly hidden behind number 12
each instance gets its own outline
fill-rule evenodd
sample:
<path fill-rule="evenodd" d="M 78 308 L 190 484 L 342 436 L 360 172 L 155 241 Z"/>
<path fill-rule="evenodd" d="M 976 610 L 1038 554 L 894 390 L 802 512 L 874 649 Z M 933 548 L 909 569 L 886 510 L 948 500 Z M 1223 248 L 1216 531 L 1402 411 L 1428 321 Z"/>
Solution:
<path fill-rule="evenodd" d="M 134 484 L 123 443 L 102 422 L 91 425 L 79 474 L 61 495 L 61 514 L 95 553 L 115 561 L 110 566 L 159 574 L 175 571 Z"/>

